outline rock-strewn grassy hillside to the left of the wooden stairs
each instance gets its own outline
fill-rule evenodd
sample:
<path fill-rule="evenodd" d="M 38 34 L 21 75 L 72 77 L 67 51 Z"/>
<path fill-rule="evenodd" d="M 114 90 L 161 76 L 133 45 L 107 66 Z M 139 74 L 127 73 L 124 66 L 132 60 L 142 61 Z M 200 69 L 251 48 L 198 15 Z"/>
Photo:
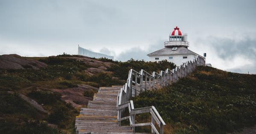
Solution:
<path fill-rule="evenodd" d="M 63 54 L 55 57 L 19 57 L 46 63 L 47 67 L 38 70 L 31 66 L 25 69 L 0 69 L 0 132 L 5 134 L 74 134 L 75 117 L 79 108 L 66 103 L 63 97 L 78 92 L 79 85 L 93 87 L 123 85 L 128 71 L 173 68 L 167 61 L 160 63 L 129 60 L 117 62 L 105 58 L 85 58 L 79 55 Z M 55 92 L 65 90 L 64 94 Z M 13 91 L 15 94 L 10 94 Z M 85 90 L 83 95 L 92 99 L 95 88 Z M 49 114 L 41 113 L 24 101 L 19 94 L 35 100 Z M 75 98 L 77 98 L 75 94 Z M 73 101 L 83 105 L 86 102 Z M 55 127 L 52 127 L 55 126 Z"/>

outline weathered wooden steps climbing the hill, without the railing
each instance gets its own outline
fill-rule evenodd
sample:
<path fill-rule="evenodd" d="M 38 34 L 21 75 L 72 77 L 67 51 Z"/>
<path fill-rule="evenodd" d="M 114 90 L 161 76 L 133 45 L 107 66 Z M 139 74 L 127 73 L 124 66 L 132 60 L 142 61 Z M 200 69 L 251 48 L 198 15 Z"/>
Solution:
<path fill-rule="evenodd" d="M 133 133 L 131 126 L 119 126 L 117 122 L 116 102 L 118 91 L 122 87 L 99 88 L 93 101 L 89 101 L 87 108 L 81 108 L 76 117 L 78 134 L 137 134 Z"/>

